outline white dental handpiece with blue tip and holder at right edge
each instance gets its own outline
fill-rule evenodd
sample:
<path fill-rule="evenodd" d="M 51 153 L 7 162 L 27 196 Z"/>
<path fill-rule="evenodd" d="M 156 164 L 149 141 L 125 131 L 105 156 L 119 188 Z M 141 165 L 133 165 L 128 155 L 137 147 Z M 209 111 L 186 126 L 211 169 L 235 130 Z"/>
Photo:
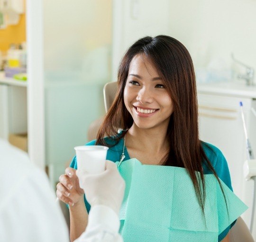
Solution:
<path fill-rule="evenodd" d="M 247 150 L 247 160 L 244 163 L 244 176 L 246 180 L 253 179 L 254 180 L 254 191 L 253 191 L 253 206 L 252 206 L 252 215 L 251 215 L 251 223 L 250 223 L 250 232 L 252 233 L 253 223 L 254 223 L 254 214 L 255 214 L 255 202 L 256 202 L 256 160 L 254 159 L 254 154 L 251 148 L 250 141 L 247 135 L 247 128 L 245 123 L 245 116 L 243 112 L 243 103 L 240 102 L 241 107 L 241 115 L 243 120 L 245 138 L 246 138 L 246 150 Z"/>

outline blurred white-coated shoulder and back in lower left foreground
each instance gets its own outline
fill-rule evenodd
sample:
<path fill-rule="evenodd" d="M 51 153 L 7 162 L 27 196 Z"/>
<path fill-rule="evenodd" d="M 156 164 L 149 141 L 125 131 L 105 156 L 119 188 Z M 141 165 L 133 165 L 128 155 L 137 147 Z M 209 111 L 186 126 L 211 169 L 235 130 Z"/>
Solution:
<path fill-rule="evenodd" d="M 0 139 L 0 241 L 68 242 L 68 229 L 45 172 Z"/>

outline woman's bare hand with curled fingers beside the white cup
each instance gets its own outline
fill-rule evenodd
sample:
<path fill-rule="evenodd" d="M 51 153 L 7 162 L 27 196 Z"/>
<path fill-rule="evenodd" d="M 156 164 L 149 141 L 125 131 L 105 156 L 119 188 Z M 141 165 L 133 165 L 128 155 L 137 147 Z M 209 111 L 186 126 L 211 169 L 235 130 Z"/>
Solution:
<path fill-rule="evenodd" d="M 75 169 L 68 167 L 65 170 L 65 174 L 59 178 L 59 183 L 56 188 L 57 197 L 64 203 L 73 206 L 83 196 L 84 192 L 79 187 L 78 177 L 76 176 Z"/>

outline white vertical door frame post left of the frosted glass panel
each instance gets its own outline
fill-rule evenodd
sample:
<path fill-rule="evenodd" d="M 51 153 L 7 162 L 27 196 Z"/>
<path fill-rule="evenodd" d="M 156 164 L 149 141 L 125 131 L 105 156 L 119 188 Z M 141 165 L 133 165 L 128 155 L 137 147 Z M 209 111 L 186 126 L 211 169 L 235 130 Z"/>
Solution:
<path fill-rule="evenodd" d="M 44 170 L 46 161 L 42 0 L 27 0 L 26 31 L 28 154 L 31 161 Z"/>

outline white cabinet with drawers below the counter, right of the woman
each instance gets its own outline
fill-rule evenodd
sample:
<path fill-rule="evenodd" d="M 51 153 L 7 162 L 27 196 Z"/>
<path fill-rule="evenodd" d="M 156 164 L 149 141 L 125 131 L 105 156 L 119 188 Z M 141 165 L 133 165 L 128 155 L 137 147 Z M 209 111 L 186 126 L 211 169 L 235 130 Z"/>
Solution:
<path fill-rule="evenodd" d="M 256 117 L 250 111 L 252 107 L 256 106 L 256 100 L 252 98 L 199 92 L 199 130 L 200 139 L 217 146 L 226 157 L 233 190 L 249 206 L 243 215 L 249 225 L 253 182 L 245 181 L 243 177 L 243 164 L 247 156 L 240 101 L 243 102 L 248 137 L 256 152 Z"/>

